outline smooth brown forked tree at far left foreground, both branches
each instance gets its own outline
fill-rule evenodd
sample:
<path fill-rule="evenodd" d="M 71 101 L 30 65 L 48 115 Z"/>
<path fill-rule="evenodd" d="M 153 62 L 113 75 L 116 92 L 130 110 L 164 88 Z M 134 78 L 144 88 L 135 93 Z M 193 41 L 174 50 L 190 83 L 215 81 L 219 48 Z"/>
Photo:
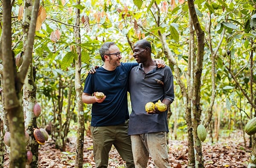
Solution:
<path fill-rule="evenodd" d="M 26 41 L 26 50 L 24 61 L 17 72 L 14 53 L 12 51 L 12 20 L 11 3 L 9 0 L 3 0 L 3 33 L 1 59 L 3 60 L 3 93 L 5 95 L 4 109 L 7 111 L 10 121 L 11 147 L 10 147 L 10 167 L 25 167 L 26 162 L 26 143 L 24 134 L 24 118 L 22 109 L 21 87 L 24 84 L 27 70 L 32 60 L 32 50 L 35 34 L 35 23 L 38 15 L 39 0 L 35 0 L 32 9 L 31 21 L 34 24 L 29 25 L 28 38 Z"/>

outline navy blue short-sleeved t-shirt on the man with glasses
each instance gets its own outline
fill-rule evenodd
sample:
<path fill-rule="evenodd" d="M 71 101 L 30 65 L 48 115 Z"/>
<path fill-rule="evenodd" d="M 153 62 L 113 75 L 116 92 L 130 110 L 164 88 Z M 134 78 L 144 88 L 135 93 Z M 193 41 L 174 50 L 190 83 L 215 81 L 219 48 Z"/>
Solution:
<path fill-rule="evenodd" d="M 92 106 L 91 126 L 114 126 L 129 119 L 127 90 L 131 69 L 137 63 L 121 63 L 115 70 L 96 69 L 96 73 L 88 74 L 84 93 L 103 92 L 106 99 Z"/>

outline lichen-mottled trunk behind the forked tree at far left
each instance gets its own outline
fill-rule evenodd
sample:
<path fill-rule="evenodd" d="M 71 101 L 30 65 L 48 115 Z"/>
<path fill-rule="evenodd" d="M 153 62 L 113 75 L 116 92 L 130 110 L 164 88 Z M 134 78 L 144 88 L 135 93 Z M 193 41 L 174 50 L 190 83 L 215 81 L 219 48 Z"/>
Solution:
<path fill-rule="evenodd" d="M 32 1 L 26 0 L 23 7 L 23 51 L 26 50 L 26 40 L 29 31 L 30 18 L 32 14 Z M 35 69 L 32 63 L 29 65 L 29 69 L 26 75 L 26 80 L 23 85 L 23 111 L 25 120 L 25 132 L 29 134 L 29 142 L 26 146 L 26 151 L 31 151 L 33 154 L 33 160 L 30 165 L 26 165 L 26 168 L 38 167 L 38 143 L 35 141 L 33 135 L 33 129 L 37 128 L 36 116 L 34 115 L 34 106 L 36 103 L 36 84 L 35 84 Z"/>

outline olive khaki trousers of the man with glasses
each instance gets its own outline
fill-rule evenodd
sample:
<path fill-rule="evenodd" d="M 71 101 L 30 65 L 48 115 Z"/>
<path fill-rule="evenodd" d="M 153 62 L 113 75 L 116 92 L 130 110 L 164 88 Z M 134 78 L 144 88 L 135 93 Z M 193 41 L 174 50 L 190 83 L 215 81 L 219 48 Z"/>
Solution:
<path fill-rule="evenodd" d="M 93 155 L 96 168 L 108 167 L 108 153 L 112 145 L 126 162 L 126 168 L 134 168 L 131 151 L 131 138 L 128 135 L 128 120 L 117 126 L 91 127 L 93 136 Z"/>

